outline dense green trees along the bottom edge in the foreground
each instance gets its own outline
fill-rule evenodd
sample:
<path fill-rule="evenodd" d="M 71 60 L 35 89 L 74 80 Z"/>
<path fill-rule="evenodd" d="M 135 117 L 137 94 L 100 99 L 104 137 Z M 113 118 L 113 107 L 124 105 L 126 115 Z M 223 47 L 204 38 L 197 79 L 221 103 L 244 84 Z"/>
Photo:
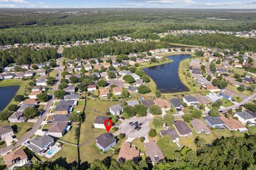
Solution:
<path fill-rule="evenodd" d="M 205 145 L 205 141 L 196 138 L 195 143 L 197 151 L 187 147 L 178 149 L 171 141 L 170 137 L 162 137 L 157 142 L 162 148 L 165 160 L 156 165 L 151 165 L 145 160 L 140 160 L 135 164 L 131 160 L 124 163 L 118 163 L 115 159 L 107 157 L 103 160 L 95 159 L 92 163 L 87 162 L 81 165 L 67 164 L 65 161 L 56 164 L 54 161 L 44 165 L 33 165 L 32 167 L 23 166 L 19 170 L 27 169 L 47 169 L 47 170 L 66 170 L 66 169 L 247 169 L 256 168 L 256 135 L 247 135 L 245 137 L 230 137 L 214 140 L 212 145 Z"/>

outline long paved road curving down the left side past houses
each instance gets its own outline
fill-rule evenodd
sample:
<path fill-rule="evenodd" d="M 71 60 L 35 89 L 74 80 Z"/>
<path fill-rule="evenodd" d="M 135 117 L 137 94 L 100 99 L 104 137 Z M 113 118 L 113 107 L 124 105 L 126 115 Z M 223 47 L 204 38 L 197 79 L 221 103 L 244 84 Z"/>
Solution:
<path fill-rule="evenodd" d="M 61 79 L 61 68 L 62 68 L 62 57 L 58 58 L 57 60 L 57 64 L 59 64 L 59 67 L 57 67 L 57 72 L 59 73 L 59 76 L 57 77 L 57 82 L 55 83 L 54 85 L 54 88 L 53 88 L 53 91 L 54 90 L 57 90 L 58 86 L 59 86 L 59 83 L 60 83 L 60 79 Z M 51 94 L 50 95 L 50 100 L 47 102 L 46 106 L 44 107 L 44 110 L 43 110 L 43 115 L 42 117 L 39 117 L 37 122 L 34 124 L 33 128 L 25 135 L 23 136 L 20 140 L 17 141 L 17 144 L 15 145 L 16 147 L 20 146 L 20 145 L 23 145 L 24 142 L 26 142 L 27 140 L 29 140 L 29 138 L 35 134 L 35 132 L 39 129 L 39 127 L 41 126 L 46 114 L 47 114 L 47 111 L 49 111 L 51 105 L 52 105 L 52 102 L 53 102 L 53 95 Z M 8 152 L 11 152 L 12 149 L 14 147 L 11 145 L 11 146 L 7 146 L 3 149 L 0 149 L 0 154 L 2 155 L 5 155 L 7 154 Z"/>

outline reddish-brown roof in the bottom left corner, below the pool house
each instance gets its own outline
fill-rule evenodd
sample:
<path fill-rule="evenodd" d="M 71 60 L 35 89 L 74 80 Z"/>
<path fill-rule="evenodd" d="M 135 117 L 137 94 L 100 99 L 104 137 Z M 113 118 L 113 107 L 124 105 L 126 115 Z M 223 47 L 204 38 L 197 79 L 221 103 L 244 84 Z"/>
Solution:
<path fill-rule="evenodd" d="M 6 165 L 8 167 L 13 165 L 12 164 L 13 160 L 23 160 L 23 159 L 26 159 L 26 158 L 27 158 L 27 155 L 26 155 L 25 151 L 21 148 L 16 150 L 16 151 L 12 151 L 9 154 L 3 156 L 3 159 L 7 163 Z"/>

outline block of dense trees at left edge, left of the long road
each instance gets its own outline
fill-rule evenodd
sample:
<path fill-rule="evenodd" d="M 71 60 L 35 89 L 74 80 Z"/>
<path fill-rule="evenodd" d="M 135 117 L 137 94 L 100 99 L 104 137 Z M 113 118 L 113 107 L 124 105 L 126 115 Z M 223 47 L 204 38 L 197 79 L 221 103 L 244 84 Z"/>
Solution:
<path fill-rule="evenodd" d="M 9 64 L 42 63 L 57 58 L 55 48 L 35 49 L 30 47 L 11 48 L 0 50 L 0 67 Z"/>

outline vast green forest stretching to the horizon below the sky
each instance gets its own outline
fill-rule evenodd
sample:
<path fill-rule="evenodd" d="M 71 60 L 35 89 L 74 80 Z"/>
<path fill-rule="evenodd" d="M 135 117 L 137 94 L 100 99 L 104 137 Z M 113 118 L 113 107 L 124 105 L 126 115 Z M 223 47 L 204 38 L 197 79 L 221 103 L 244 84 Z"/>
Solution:
<path fill-rule="evenodd" d="M 157 35 L 153 35 L 154 32 L 182 29 L 256 29 L 256 15 L 250 10 L 1 9 L 0 12 L 0 45 L 75 41 L 127 34 L 132 34 L 133 38 L 155 39 Z"/>

